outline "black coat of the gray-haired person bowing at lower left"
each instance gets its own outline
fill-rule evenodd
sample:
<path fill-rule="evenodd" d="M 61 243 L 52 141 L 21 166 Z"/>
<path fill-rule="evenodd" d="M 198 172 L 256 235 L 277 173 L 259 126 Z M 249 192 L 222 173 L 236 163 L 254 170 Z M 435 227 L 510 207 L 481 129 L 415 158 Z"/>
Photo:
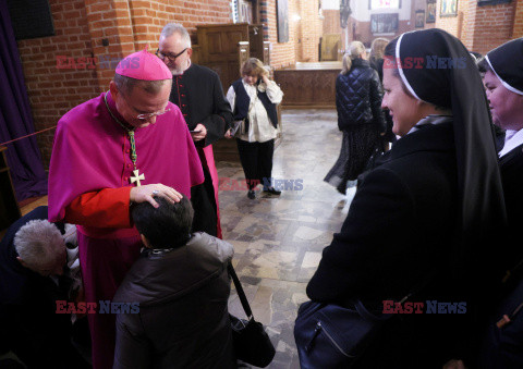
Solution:
<path fill-rule="evenodd" d="M 47 220 L 38 207 L 14 222 L 0 243 L 0 353 L 14 352 L 28 368 L 86 368 L 71 344 L 71 315 L 57 313 L 56 300 L 66 300 L 70 279 L 57 285 L 17 260 L 16 232 L 32 220 Z M 63 233 L 63 224 L 54 223 Z"/>

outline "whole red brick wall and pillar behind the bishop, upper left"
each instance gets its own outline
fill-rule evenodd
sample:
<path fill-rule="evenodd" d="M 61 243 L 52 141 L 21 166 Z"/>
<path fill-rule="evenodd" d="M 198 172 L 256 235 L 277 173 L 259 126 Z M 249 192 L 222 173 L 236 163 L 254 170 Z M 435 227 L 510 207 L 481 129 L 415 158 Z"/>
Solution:
<path fill-rule="evenodd" d="M 54 126 L 65 112 L 107 90 L 118 60 L 149 45 L 168 22 L 194 34 L 196 24 L 230 23 L 229 0 L 49 0 L 56 36 L 20 40 L 36 131 Z M 102 45 L 102 39 L 109 41 Z M 37 136 L 48 167 L 54 131 Z"/>

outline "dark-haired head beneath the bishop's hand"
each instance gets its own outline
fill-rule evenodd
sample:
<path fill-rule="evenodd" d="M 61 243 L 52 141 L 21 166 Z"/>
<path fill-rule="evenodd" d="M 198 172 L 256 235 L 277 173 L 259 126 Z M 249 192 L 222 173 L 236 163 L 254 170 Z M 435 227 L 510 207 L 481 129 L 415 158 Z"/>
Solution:
<path fill-rule="evenodd" d="M 136 229 L 149 248 L 170 248 L 184 245 L 193 224 L 193 207 L 183 197 L 180 202 L 170 202 L 163 197 L 154 197 L 159 207 L 149 202 L 137 204 L 132 210 Z"/>

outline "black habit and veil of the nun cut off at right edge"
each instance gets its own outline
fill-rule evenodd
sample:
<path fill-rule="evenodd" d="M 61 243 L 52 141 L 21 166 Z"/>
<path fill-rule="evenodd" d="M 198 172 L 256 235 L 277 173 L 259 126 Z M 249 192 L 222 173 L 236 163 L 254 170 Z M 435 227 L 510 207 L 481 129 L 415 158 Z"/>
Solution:
<path fill-rule="evenodd" d="M 488 52 L 485 59 L 507 89 L 523 95 L 523 38 L 501 45 Z M 521 110 L 523 106 L 513 109 Z M 522 133 L 523 130 L 518 132 L 520 135 Z M 512 142 L 518 139 L 516 133 L 510 135 L 512 138 L 506 142 L 503 149 L 507 151 L 501 155 L 499 165 L 509 220 L 508 244 L 521 250 L 519 239 L 523 224 L 523 144 Z M 522 258 L 520 251 L 513 258 L 512 267 Z M 481 368 L 523 368 L 523 311 L 515 312 L 523 303 L 523 266 L 511 276 L 507 281 L 507 293 L 488 324 L 478 361 Z M 497 322 L 503 316 L 510 317 L 511 321 L 498 327 Z"/>

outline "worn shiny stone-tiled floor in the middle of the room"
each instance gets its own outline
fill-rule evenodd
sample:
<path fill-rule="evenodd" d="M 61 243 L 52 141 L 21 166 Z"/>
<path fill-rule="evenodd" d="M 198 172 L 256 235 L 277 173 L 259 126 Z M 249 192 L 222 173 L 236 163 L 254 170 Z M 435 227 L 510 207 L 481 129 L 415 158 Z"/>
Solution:
<path fill-rule="evenodd" d="M 234 267 L 256 320 L 267 327 L 277 354 L 269 368 L 300 368 L 293 328 L 297 307 L 321 250 L 341 229 L 354 190 L 339 194 L 323 179 L 338 158 L 341 135 L 333 110 L 285 110 L 283 139 L 272 177 L 302 180 L 303 188 L 275 197 L 220 190 L 223 239 L 234 245 Z M 219 162 L 219 176 L 242 180 L 240 163 Z M 232 187 L 232 186 L 231 186 Z M 259 190 L 260 190 L 259 186 Z M 242 316 L 235 292 L 230 311 Z"/>

